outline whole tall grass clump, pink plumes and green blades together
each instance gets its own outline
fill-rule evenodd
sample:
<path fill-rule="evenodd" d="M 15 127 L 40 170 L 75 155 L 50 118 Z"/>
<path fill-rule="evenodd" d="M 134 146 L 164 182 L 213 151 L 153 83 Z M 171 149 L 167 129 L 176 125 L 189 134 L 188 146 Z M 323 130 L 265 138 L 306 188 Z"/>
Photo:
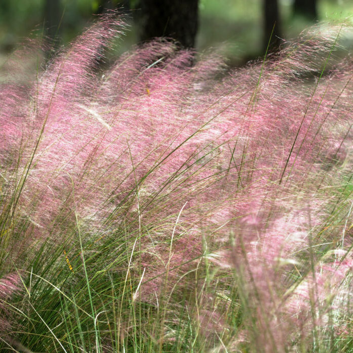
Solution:
<path fill-rule="evenodd" d="M 102 68 L 108 15 L 3 77 L 0 348 L 352 351 L 349 30 L 236 70 L 163 39 Z"/>

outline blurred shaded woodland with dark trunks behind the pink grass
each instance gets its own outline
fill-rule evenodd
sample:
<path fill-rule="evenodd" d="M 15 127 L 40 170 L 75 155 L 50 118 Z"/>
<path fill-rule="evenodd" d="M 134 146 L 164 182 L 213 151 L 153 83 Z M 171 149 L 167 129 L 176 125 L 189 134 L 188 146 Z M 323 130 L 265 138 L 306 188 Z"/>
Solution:
<path fill-rule="evenodd" d="M 274 23 L 272 50 L 313 21 L 349 18 L 353 1 L 0 0 L 0 54 L 6 56 L 24 37 L 38 34 L 51 38 L 58 48 L 109 9 L 120 9 L 130 25 L 117 54 L 139 41 L 165 35 L 198 51 L 216 48 L 230 66 L 241 66 L 263 55 Z M 347 43 L 347 49 L 350 46 Z"/>

